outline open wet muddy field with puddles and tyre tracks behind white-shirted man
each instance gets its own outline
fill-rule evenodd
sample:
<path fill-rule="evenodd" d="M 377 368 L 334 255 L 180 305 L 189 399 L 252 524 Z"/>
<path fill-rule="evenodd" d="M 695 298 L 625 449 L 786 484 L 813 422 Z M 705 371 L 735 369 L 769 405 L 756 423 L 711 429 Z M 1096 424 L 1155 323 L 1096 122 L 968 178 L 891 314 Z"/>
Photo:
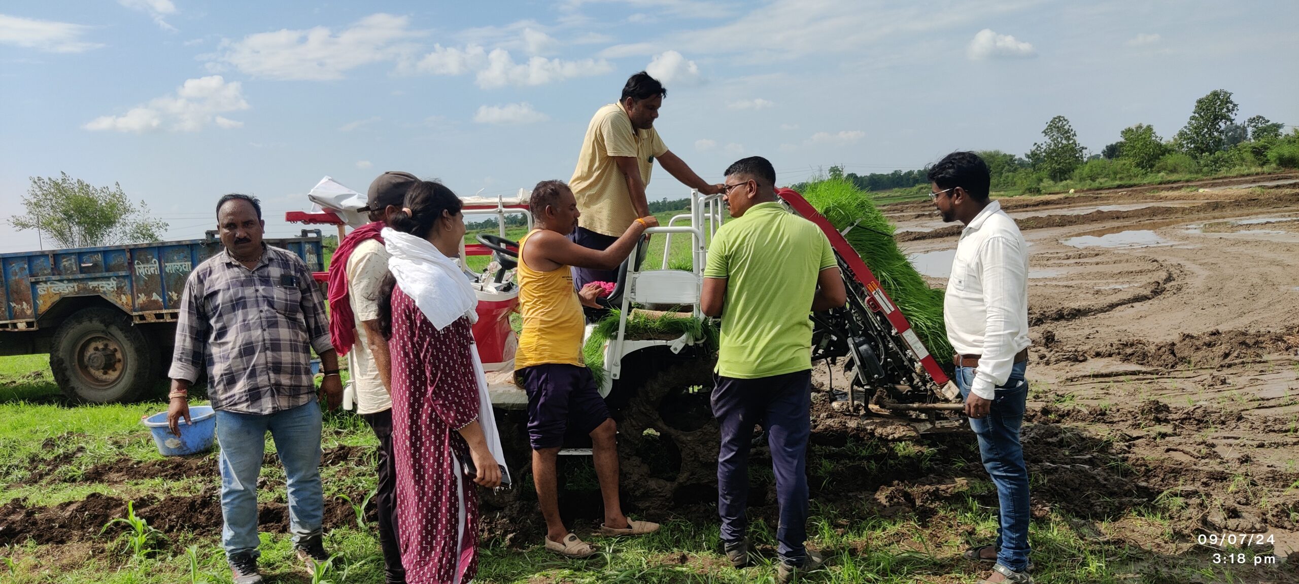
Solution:
<path fill-rule="evenodd" d="M 1260 186 L 1260 183 L 1263 183 Z M 1299 562 L 1299 176 L 1011 199 L 1029 241 L 1030 466 L 1066 505 L 1181 497 L 1179 532 L 1268 532 Z M 946 284 L 959 227 L 887 208 Z M 1070 437 L 1074 436 L 1074 437 Z M 1100 443 L 1087 444 L 1087 440 Z M 1070 440 L 1074 444 L 1069 444 Z M 1065 446 L 1063 457 L 1050 448 Z M 1060 453 L 1053 453 L 1060 454 Z M 1124 476 L 1105 471 L 1115 461 Z M 1091 478 L 1091 480 L 1087 480 Z M 1095 500 L 1092 500 L 1095 496 Z M 1293 555 L 1291 555 L 1293 554 Z"/>

